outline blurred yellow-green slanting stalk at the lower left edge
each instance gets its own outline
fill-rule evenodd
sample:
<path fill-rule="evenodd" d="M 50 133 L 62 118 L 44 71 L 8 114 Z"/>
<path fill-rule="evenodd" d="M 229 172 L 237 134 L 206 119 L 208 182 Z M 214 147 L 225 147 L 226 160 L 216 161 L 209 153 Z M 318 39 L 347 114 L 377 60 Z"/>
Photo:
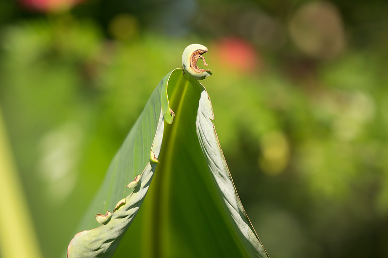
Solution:
<path fill-rule="evenodd" d="M 0 109 L 0 256 L 40 258 L 23 188 L 16 173 Z"/>

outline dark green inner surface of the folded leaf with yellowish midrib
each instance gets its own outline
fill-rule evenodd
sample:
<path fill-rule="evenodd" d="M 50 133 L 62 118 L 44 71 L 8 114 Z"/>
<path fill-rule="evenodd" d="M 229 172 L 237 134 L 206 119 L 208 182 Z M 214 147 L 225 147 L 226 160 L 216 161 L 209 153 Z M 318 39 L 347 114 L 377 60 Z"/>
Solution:
<path fill-rule="evenodd" d="M 256 247 L 244 243 L 247 240 L 239 233 L 239 227 L 233 226 L 235 222 L 208 168 L 196 132 L 202 92 L 206 92 L 205 88 L 190 77 L 172 76 L 168 93 L 176 117 L 172 125 L 166 124 L 161 164 L 141 215 L 132 225 L 135 227 L 129 228 L 131 235 L 138 235 L 141 241 L 133 244 L 125 236 L 125 245 L 118 247 L 115 257 L 126 257 L 126 249 L 136 247 L 140 249 L 136 257 L 267 257 L 263 248 L 259 251 L 261 256 L 252 255 L 255 251 L 249 250 L 256 250 L 261 243 Z M 211 108 L 206 111 L 212 115 Z M 209 116 L 206 119 L 211 126 L 207 130 L 215 134 Z M 219 152 L 222 153 L 220 149 Z M 233 197 L 234 191 L 233 186 Z"/>

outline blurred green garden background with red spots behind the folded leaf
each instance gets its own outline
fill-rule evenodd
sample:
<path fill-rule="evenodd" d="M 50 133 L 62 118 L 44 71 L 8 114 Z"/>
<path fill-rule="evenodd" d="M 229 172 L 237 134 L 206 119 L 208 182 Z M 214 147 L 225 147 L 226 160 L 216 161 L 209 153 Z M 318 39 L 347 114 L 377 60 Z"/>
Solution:
<path fill-rule="evenodd" d="M 192 43 L 270 256 L 388 257 L 388 1 L 5 0 L 0 106 L 44 257 Z"/>

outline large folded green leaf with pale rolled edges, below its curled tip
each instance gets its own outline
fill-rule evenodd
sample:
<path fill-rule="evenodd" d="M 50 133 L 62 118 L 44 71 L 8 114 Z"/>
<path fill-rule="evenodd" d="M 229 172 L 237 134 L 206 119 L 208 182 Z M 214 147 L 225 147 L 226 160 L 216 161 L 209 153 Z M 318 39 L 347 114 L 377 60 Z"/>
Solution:
<path fill-rule="evenodd" d="M 181 69 L 165 76 L 113 159 L 81 229 L 95 227 L 94 214 L 127 196 L 125 203 L 111 216 L 98 215 L 105 225 L 77 234 L 68 257 L 112 257 L 116 248 L 115 257 L 268 257 L 242 208 L 212 119 L 202 84 Z M 164 126 L 164 120 L 173 122 Z M 128 194 L 125 185 L 144 167 Z"/>

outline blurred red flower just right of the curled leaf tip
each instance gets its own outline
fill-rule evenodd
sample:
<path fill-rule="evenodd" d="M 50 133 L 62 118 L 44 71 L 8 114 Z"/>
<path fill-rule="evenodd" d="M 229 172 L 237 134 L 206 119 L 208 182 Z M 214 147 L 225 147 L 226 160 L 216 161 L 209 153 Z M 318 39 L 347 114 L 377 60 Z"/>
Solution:
<path fill-rule="evenodd" d="M 215 43 L 217 61 L 229 69 L 252 72 L 259 65 L 258 53 L 248 42 L 226 38 Z"/>

